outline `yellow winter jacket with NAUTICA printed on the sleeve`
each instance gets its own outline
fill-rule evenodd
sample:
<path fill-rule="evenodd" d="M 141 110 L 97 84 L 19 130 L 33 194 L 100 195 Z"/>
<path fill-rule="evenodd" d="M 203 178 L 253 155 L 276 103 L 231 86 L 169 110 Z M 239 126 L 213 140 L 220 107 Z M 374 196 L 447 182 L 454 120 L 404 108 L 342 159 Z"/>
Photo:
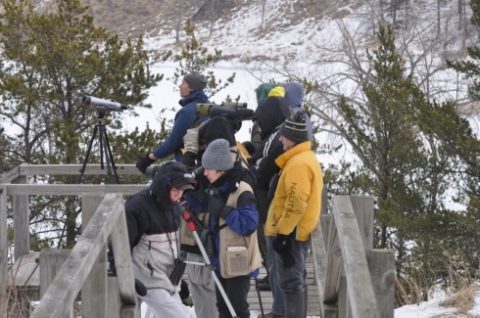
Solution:
<path fill-rule="evenodd" d="M 323 173 L 309 141 L 281 154 L 275 196 L 268 209 L 265 235 L 288 235 L 295 227 L 296 239 L 307 241 L 320 218 Z"/>

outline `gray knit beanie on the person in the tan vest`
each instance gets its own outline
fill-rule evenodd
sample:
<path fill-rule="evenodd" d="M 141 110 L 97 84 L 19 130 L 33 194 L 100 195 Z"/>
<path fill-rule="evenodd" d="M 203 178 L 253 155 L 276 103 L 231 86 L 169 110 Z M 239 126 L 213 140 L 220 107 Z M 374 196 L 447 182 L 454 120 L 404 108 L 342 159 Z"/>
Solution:
<path fill-rule="evenodd" d="M 206 169 L 227 171 L 233 168 L 230 145 L 225 139 L 215 139 L 208 144 L 202 156 L 202 166 Z"/>

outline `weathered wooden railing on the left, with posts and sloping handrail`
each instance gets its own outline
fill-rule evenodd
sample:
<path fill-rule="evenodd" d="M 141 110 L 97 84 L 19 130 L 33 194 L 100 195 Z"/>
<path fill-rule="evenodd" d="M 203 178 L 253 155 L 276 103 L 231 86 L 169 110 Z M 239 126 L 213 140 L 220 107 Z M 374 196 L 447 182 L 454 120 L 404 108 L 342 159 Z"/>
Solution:
<path fill-rule="evenodd" d="M 84 317 L 106 317 L 107 297 L 120 302 L 125 317 L 134 317 L 135 291 L 131 268 L 123 194 L 145 188 L 138 184 L 25 184 L 35 175 L 79 175 L 81 165 L 20 165 L 4 174 L 0 184 L 0 317 L 8 312 L 7 294 L 7 198 L 12 197 L 15 259 L 30 252 L 29 196 L 73 195 L 82 198 L 82 235 L 65 260 L 56 278 L 43 295 L 33 317 L 65 317 L 82 290 Z M 134 165 L 117 166 L 119 175 L 139 174 Z M 88 167 L 85 175 L 105 174 L 99 167 Z M 111 236 L 118 281 L 117 296 L 107 293 L 106 244 Z M 42 254 L 41 254 L 42 255 Z M 42 259 L 40 257 L 40 259 Z M 111 291 L 110 291 L 111 292 Z M 122 316 L 123 317 L 123 316 Z"/>

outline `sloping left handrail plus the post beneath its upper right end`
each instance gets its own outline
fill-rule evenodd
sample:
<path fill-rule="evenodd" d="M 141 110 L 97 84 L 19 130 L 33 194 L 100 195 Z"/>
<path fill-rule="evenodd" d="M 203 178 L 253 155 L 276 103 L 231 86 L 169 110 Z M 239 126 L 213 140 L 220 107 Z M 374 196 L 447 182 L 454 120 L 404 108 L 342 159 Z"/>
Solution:
<path fill-rule="evenodd" d="M 114 246 L 114 256 L 118 266 L 118 279 L 121 299 L 125 305 L 124 317 L 135 315 L 135 291 L 130 250 L 125 237 L 126 221 L 123 199 L 120 195 L 107 194 L 87 227 L 70 252 L 64 265 L 48 287 L 32 318 L 63 318 L 68 316 L 70 307 L 87 280 L 95 260 L 102 252 L 110 234 L 116 233 L 119 240 Z M 123 235 L 122 235 L 123 234 Z M 125 241 L 127 240 L 127 241 Z M 129 314 L 128 314 L 129 313 Z"/>

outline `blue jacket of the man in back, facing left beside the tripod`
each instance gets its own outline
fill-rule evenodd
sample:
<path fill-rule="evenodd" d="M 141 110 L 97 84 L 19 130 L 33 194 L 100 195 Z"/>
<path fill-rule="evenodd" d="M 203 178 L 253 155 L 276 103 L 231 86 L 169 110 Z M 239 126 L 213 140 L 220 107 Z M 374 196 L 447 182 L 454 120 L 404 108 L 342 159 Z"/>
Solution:
<path fill-rule="evenodd" d="M 194 91 L 190 95 L 182 98 L 178 102 L 182 108 L 175 114 L 172 131 L 170 135 L 162 143 L 160 143 L 153 154 L 157 158 L 164 158 L 172 153 L 175 159 L 180 158 L 180 149 L 183 145 L 183 136 L 187 130 L 195 125 L 197 119 L 204 121 L 206 116 L 197 117 L 197 103 L 208 103 L 208 97 L 203 91 Z"/>

